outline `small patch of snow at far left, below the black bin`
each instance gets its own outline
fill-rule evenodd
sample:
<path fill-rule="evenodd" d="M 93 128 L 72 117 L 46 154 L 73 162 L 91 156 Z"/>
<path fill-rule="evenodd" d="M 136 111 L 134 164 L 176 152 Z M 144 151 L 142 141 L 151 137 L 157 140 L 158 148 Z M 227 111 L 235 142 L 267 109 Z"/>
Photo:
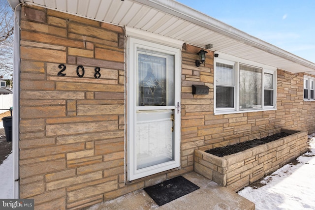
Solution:
<path fill-rule="evenodd" d="M 13 198 L 13 154 L 0 165 L 0 199 Z"/>

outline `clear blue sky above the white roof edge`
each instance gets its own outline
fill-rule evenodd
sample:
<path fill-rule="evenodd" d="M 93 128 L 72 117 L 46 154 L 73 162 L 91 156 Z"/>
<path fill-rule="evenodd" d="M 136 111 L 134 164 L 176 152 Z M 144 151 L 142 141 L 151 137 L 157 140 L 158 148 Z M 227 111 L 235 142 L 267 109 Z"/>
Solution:
<path fill-rule="evenodd" d="M 315 0 L 177 0 L 315 63 Z"/>

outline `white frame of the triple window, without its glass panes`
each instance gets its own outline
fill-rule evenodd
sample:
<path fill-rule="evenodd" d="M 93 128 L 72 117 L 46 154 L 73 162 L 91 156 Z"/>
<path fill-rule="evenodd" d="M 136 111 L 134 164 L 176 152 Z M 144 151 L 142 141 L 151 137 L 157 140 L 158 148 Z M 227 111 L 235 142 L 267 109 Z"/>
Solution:
<path fill-rule="evenodd" d="M 248 113 L 248 112 L 261 112 L 261 111 L 269 111 L 269 110 L 277 110 L 277 68 L 273 66 L 268 66 L 265 64 L 261 64 L 258 62 L 254 62 L 252 60 L 241 59 L 238 57 L 234 57 L 231 55 L 227 55 L 221 52 L 215 52 L 214 54 L 218 54 L 219 57 L 215 57 L 214 59 L 214 115 L 223 115 L 223 114 L 236 114 L 236 113 Z M 234 63 L 234 107 L 233 108 L 218 108 L 216 107 L 216 63 L 222 62 L 226 64 Z M 262 107 L 260 109 L 251 109 L 251 110 L 240 110 L 239 109 L 239 65 L 251 65 L 262 69 L 262 88 L 261 88 L 261 96 L 262 96 Z M 273 74 L 273 86 L 274 86 L 274 105 L 273 106 L 264 106 L 264 73 Z"/>

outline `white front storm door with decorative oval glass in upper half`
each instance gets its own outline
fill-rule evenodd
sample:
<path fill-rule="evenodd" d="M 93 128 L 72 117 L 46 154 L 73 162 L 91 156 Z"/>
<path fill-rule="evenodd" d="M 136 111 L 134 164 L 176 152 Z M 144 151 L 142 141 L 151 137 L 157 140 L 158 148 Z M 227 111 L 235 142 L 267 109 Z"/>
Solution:
<path fill-rule="evenodd" d="M 180 51 L 129 42 L 128 180 L 135 180 L 180 166 Z"/>

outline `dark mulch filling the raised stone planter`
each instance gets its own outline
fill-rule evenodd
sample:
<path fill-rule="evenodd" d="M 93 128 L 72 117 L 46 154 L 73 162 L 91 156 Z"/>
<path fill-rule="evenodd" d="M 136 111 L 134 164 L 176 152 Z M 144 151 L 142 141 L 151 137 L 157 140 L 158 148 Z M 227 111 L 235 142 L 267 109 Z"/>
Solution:
<path fill-rule="evenodd" d="M 238 143 L 235 145 L 228 145 L 225 147 L 220 147 L 220 148 L 214 148 L 214 149 L 210 149 L 210 150 L 206 150 L 205 152 L 210 153 L 210 154 L 214 154 L 216 156 L 219 157 L 223 157 L 226 155 L 230 155 L 230 154 L 234 154 L 240 151 L 244 151 L 262 144 L 266 144 L 268 142 L 272 142 L 278 139 L 281 139 L 285 136 L 288 136 L 290 134 L 288 133 L 276 133 L 274 135 L 271 136 L 267 136 L 261 139 L 253 139 L 251 141 L 247 141 L 247 142 L 242 142 L 242 143 Z"/>

